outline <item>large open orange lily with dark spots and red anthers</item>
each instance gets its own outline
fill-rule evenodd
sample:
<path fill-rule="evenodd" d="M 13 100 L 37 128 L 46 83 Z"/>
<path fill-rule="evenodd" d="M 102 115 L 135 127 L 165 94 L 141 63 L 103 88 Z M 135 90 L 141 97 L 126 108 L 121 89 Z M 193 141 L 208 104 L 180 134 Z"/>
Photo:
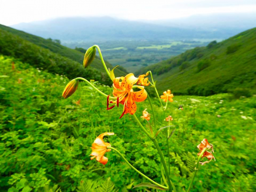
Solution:
<path fill-rule="evenodd" d="M 119 80 L 122 80 L 120 82 Z M 147 92 L 145 91 L 143 86 L 137 86 L 137 88 L 141 89 L 140 91 L 134 92 L 132 86 L 138 81 L 138 78 L 135 77 L 132 73 L 129 73 L 125 77 L 117 77 L 113 80 L 113 95 L 116 100 L 111 100 L 110 103 L 114 103 L 113 106 L 108 107 L 109 104 L 109 96 L 107 97 L 107 110 L 112 109 L 119 103 L 124 105 L 124 110 L 121 118 L 124 114 L 130 113 L 133 115 L 136 112 L 137 106 L 135 102 L 144 101 L 147 98 Z"/>

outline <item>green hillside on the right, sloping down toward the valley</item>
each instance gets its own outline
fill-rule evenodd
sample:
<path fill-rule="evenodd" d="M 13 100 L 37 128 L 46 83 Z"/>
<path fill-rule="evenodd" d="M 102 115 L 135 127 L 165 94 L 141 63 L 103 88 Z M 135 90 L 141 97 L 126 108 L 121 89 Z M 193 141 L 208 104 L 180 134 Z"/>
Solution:
<path fill-rule="evenodd" d="M 211 95 L 256 90 L 256 28 L 220 43 L 196 47 L 136 72 L 151 70 L 161 91 Z M 246 95 L 243 95 L 246 96 Z"/>

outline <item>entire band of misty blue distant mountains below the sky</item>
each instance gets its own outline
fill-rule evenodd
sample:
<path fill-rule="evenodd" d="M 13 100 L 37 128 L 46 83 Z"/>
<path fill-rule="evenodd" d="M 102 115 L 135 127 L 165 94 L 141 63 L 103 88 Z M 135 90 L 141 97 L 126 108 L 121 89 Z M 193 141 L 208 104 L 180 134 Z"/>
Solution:
<path fill-rule="evenodd" d="M 256 26 L 256 14 L 197 15 L 161 21 L 111 17 L 69 17 L 20 23 L 11 27 L 61 42 L 219 38 Z"/>

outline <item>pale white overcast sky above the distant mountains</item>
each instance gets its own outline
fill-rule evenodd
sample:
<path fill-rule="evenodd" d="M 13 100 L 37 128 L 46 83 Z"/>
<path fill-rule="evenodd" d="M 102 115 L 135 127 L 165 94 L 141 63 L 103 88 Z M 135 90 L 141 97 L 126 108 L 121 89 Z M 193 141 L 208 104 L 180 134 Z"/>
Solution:
<path fill-rule="evenodd" d="M 195 14 L 256 12 L 256 0 L 0 0 L 0 24 L 58 17 L 163 20 Z"/>

